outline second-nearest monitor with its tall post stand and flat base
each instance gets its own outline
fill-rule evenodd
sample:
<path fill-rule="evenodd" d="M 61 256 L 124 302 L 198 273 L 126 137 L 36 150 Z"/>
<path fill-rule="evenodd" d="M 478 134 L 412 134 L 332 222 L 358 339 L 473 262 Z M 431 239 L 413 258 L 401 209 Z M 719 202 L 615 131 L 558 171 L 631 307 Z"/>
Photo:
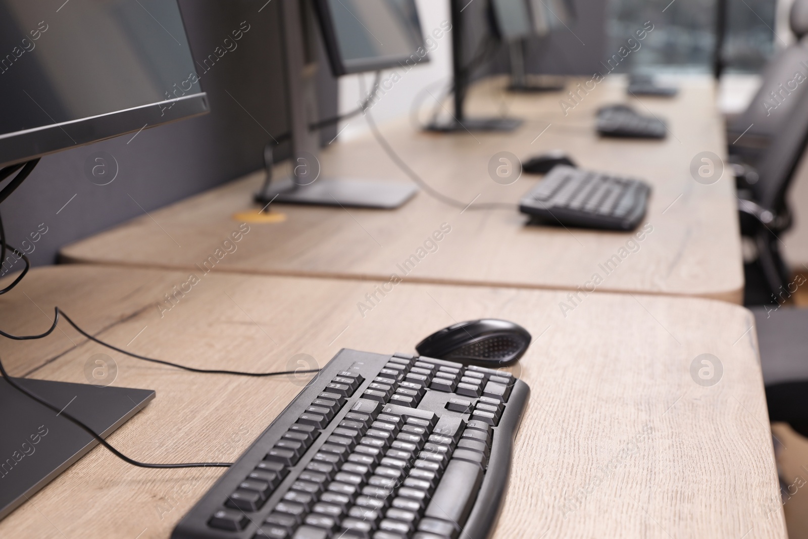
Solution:
<path fill-rule="evenodd" d="M 314 8 L 314 10 L 312 9 Z M 321 178 L 314 74 L 318 19 L 336 77 L 410 69 L 428 61 L 415 0 L 281 0 L 292 175 L 274 182 L 271 153 L 265 154 L 267 182 L 259 204 L 318 204 L 357 208 L 398 208 L 417 189 L 410 183 Z M 315 17 L 316 16 L 316 17 Z M 338 120 L 338 119 L 335 119 Z"/>

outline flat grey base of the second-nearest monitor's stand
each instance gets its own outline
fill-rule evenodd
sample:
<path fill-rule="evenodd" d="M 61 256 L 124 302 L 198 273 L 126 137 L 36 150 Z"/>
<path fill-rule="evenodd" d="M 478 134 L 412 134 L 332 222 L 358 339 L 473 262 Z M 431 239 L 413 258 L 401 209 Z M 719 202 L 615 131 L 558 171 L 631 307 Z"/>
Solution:
<path fill-rule="evenodd" d="M 259 204 L 312 204 L 346 208 L 395 209 L 418 192 L 409 183 L 374 182 L 361 179 L 320 179 L 296 185 L 286 178 L 270 183 L 255 194 Z"/>

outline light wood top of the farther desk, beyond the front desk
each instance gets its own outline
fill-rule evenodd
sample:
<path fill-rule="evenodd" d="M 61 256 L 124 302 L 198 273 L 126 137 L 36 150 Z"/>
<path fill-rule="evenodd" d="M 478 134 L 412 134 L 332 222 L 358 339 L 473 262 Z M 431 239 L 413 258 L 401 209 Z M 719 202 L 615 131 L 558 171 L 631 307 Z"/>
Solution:
<path fill-rule="evenodd" d="M 393 273 L 404 276 L 399 265 L 416 255 L 421 258 L 406 280 L 591 289 L 587 283 L 597 273 L 603 279 L 599 291 L 741 301 L 743 266 L 730 173 L 725 171 L 718 183 L 702 185 L 689 171 L 696 154 L 712 151 L 723 157 L 726 152 L 712 81 L 685 78 L 675 99 L 638 101 L 625 96 L 625 81 L 615 77 L 597 86 L 567 116 L 559 105 L 562 95 L 505 95 L 501 83 L 494 79 L 478 86 L 469 110 L 481 114 L 487 107 L 493 114 L 507 106 L 512 116 L 526 120 L 515 133 L 435 135 L 417 132 L 406 120 L 382 128 L 393 148 L 427 183 L 457 200 L 473 202 L 471 208 L 461 212 L 423 192 L 395 211 L 276 204 L 273 208 L 284 213 L 286 221 L 252 225 L 238 252 L 225 256 L 218 267 L 228 272 L 386 281 Z M 603 103 L 624 101 L 640 112 L 666 118 L 671 131 L 667 139 L 597 137 L 595 110 Z M 538 177 L 522 175 L 503 186 L 490 178 L 488 164 L 503 150 L 524 159 L 550 149 L 565 150 L 580 166 L 652 183 L 646 222 L 639 227 L 650 226 L 652 232 L 634 243 L 629 233 L 526 225 L 516 201 Z M 321 161 L 323 175 L 409 181 L 369 135 L 334 142 Z M 279 169 L 280 177 L 288 166 Z M 191 268 L 228 238 L 237 225 L 232 216 L 251 207 L 262 182 L 263 172 L 258 172 L 67 246 L 61 255 L 74 262 Z M 490 201 L 515 205 L 474 211 L 474 204 Z M 443 223 L 452 231 L 438 250 L 419 251 Z M 619 266 L 605 272 L 600 265 L 615 256 Z"/>

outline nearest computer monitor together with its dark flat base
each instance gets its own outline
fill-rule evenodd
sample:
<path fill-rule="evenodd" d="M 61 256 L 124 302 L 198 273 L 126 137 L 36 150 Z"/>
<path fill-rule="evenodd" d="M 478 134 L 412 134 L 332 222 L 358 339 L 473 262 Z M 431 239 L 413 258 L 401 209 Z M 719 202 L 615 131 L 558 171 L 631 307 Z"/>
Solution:
<path fill-rule="evenodd" d="M 0 180 L 17 173 L 0 200 L 43 155 L 208 112 L 176 0 L 0 0 L 0 54 Z M 100 436 L 154 398 L 103 381 L 15 381 Z M 0 519 L 96 444 L 0 380 Z"/>

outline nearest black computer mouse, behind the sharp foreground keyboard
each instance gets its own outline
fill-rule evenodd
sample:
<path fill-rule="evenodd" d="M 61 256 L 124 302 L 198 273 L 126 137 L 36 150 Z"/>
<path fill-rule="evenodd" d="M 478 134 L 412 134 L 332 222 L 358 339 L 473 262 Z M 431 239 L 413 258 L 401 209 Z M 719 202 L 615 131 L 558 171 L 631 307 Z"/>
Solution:
<path fill-rule="evenodd" d="M 422 356 L 499 368 L 516 363 L 530 345 L 524 327 L 486 318 L 448 326 L 423 339 L 415 350 Z"/>

